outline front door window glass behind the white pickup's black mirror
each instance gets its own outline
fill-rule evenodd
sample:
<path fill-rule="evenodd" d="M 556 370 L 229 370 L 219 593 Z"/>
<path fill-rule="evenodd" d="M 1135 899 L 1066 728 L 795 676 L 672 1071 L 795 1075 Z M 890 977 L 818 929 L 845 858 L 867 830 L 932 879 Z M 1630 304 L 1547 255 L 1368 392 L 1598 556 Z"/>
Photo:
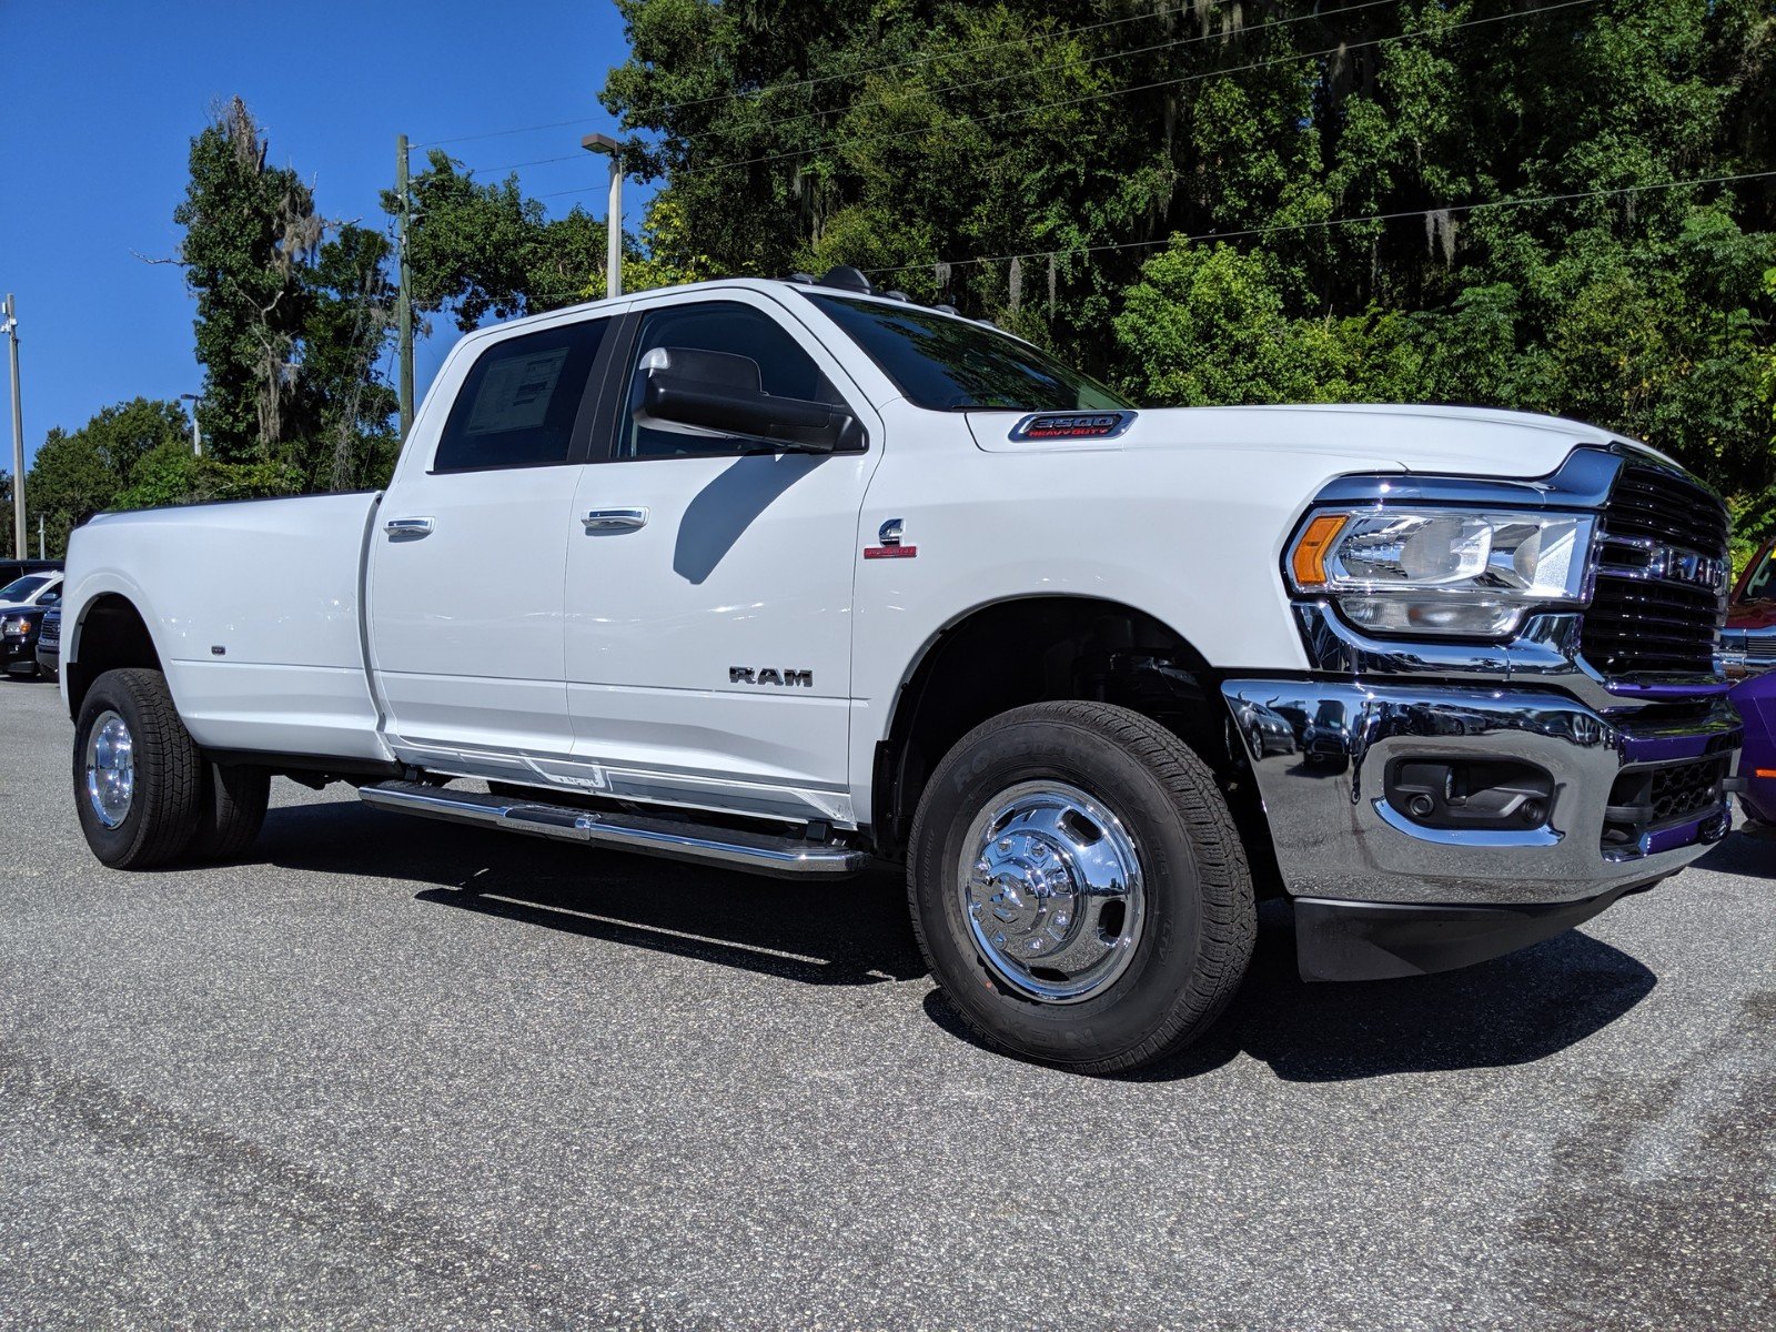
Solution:
<path fill-rule="evenodd" d="M 813 357 L 764 311 L 726 300 L 668 305 L 641 320 L 618 458 L 721 458 L 771 448 L 742 423 L 723 423 L 719 410 L 710 414 L 710 424 L 650 416 L 646 389 L 655 366 L 707 378 L 710 389 L 844 408 L 844 398 Z"/>

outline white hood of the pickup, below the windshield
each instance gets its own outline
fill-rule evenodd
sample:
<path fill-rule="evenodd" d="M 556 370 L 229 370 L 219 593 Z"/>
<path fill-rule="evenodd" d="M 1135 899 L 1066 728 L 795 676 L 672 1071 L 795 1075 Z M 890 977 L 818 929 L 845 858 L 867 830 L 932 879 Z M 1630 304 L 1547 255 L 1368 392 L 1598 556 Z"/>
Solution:
<path fill-rule="evenodd" d="M 968 428 L 987 453 L 1058 449 L 1215 449 L 1291 453 L 1343 460 L 1350 471 L 1455 472 L 1536 478 L 1556 471 L 1579 444 L 1611 444 L 1598 426 L 1485 407 L 1158 407 L 1131 412 L 1110 439 L 1012 439 L 1027 412 L 970 412 Z M 1066 416 L 1048 414 L 1043 416 Z M 1089 416 L 1089 414 L 1080 414 Z"/>

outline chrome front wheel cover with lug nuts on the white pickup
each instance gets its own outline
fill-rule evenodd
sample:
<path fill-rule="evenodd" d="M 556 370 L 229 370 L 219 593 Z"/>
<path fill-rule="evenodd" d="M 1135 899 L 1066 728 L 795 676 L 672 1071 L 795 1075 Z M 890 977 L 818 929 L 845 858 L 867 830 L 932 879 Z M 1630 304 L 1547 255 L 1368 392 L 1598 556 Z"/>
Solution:
<path fill-rule="evenodd" d="M 1019 995 L 1078 1003 L 1135 957 L 1146 920 L 1135 838 L 1078 787 L 1002 792 L 970 824 L 957 870 L 975 948 Z"/>

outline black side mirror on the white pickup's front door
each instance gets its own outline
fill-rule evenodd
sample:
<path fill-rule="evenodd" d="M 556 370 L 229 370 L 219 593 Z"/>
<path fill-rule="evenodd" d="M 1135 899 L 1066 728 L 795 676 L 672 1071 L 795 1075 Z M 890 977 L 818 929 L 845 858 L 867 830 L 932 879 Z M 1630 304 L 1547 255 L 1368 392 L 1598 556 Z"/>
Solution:
<path fill-rule="evenodd" d="M 758 385 L 758 362 L 732 352 L 655 346 L 641 359 L 643 410 L 661 421 L 760 439 L 792 453 L 863 448 L 863 426 L 844 407 L 776 398 Z"/>

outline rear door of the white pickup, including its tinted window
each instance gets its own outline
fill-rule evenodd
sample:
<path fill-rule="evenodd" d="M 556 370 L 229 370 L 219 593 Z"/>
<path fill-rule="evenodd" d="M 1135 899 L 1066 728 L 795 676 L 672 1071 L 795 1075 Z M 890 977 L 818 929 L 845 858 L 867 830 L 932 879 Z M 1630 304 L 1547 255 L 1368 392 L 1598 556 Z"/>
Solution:
<path fill-rule="evenodd" d="M 408 439 L 371 533 L 368 616 L 410 762 L 535 780 L 572 749 L 561 577 L 616 325 L 563 320 L 453 359 L 444 408 Z"/>

